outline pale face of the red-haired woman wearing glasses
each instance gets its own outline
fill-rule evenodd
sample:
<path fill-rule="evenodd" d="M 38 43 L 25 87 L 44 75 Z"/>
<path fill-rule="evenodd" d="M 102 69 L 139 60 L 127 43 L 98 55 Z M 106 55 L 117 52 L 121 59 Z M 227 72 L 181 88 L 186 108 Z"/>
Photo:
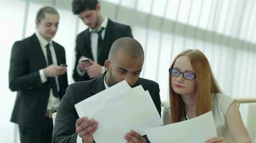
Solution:
<path fill-rule="evenodd" d="M 186 74 L 194 74 L 191 61 L 188 56 L 180 56 L 175 61 L 173 69 L 177 72 L 183 72 Z M 178 77 L 172 75 L 171 86 L 173 91 L 180 95 L 193 95 L 196 94 L 196 79 L 189 80 L 184 79 L 183 74 L 180 73 Z"/>

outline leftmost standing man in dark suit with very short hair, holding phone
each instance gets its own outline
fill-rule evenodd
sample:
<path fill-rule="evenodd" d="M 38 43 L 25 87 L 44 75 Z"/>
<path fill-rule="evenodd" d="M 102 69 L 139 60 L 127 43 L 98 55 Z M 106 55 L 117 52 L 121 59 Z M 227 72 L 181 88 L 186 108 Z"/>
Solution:
<path fill-rule="evenodd" d="M 52 41 L 58 23 L 58 11 L 42 7 L 37 13 L 35 34 L 12 47 L 9 88 L 17 91 L 17 99 L 11 121 L 19 124 L 22 143 L 51 142 L 52 112 L 68 87 L 65 49 Z"/>

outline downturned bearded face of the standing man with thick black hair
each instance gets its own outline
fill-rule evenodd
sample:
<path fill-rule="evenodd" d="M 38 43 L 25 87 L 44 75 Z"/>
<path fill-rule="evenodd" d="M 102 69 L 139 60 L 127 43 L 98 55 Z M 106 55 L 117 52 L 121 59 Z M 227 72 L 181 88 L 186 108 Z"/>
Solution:
<path fill-rule="evenodd" d="M 83 23 L 86 24 L 91 29 L 95 30 L 98 28 L 100 22 L 100 11 L 99 4 L 96 6 L 96 10 L 86 9 L 79 14 L 79 17 L 83 20 Z"/>

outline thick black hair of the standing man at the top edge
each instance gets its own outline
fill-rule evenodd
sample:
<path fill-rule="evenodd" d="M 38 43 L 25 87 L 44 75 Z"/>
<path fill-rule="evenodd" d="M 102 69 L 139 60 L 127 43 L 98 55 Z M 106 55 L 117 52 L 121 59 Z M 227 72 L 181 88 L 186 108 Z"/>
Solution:
<path fill-rule="evenodd" d="M 96 6 L 99 4 L 98 0 L 73 0 L 72 11 L 73 14 L 80 14 L 83 11 L 96 10 Z"/>

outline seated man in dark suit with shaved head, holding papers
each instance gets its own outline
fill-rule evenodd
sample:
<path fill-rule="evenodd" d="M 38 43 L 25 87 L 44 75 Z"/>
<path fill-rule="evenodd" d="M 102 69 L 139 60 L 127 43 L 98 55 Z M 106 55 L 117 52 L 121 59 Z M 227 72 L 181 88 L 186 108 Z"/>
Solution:
<path fill-rule="evenodd" d="M 126 80 L 131 87 L 142 85 L 145 90 L 148 90 L 160 114 L 158 84 L 140 78 L 143 61 L 144 53 L 138 41 L 130 37 L 122 37 L 114 41 L 109 52 L 109 59 L 104 62 L 106 73 L 96 79 L 76 82 L 68 87 L 58 109 L 52 143 L 76 143 L 82 140 L 83 143 L 93 142 L 92 135 L 101 123 L 96 122 L 95 119 L 88 119 L 88 117 L 79 118 L 74 105 L 123 80 Z M 127 139 L 131 137 L 131 134 L 137 133 L 127 134 Z"/>

